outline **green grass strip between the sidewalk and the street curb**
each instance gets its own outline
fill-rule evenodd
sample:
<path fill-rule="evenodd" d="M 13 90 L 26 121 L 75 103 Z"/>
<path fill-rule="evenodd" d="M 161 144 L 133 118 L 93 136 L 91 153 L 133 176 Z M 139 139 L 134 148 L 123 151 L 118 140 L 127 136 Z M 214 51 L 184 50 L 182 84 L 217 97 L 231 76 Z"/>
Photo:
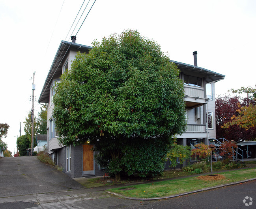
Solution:
<path fill-rule="evenodd" d="M 242 181 L 249 178 L 256 178 L 256 169 L 242 169 L 228 172 L 220 172 L 226 179 L 218 181 L 204 181 L 196 177 L 158 181 L 140 185 L 108 189 L 107 191 L 134 198 L 164 197 L 183 192 L 195 191 L 207 187 L 213 187 L 235 181 Z"/>

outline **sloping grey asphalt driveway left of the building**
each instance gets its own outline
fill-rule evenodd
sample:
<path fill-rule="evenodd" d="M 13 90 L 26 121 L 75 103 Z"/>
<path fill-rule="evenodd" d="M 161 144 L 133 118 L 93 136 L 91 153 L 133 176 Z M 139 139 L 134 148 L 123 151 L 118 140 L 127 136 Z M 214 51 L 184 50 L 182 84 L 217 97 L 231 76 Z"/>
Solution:
<path fill-rule="evenodd" d="M 82 189 L 80 183 L 36 157 L 0 159 L 0 198 Z"/>

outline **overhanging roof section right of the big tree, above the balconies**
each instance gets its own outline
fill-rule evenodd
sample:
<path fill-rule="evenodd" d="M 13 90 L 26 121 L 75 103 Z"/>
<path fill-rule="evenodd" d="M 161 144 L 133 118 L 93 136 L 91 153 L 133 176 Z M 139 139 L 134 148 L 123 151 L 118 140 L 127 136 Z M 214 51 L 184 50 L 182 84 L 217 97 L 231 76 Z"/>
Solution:
<path fill-rule="evenodd" d="M 172 60 L 170 60 L 170 62 L 175 63 L 178 66 L 179 70 L 185 74 L 188 74 L 188 75 L 200 74 L 200 77 L 206 78 L 206 83 L 217 82 L 224 79 L 225 77 L 225 75 L 215 73 L 211 70 L 207 70 L 205 68 L 201 68 L 198 66 L 185 64 L 182 62 L 177 62 Z"/>

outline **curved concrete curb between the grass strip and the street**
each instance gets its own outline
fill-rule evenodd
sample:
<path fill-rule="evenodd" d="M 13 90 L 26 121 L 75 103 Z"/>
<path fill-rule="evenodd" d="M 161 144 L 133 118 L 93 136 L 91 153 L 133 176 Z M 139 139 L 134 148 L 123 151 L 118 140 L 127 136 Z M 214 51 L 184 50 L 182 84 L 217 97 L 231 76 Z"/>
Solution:
<path fill-rule="evenodd" d="M 232 183 L 217 185 L 217 186 L 214 186 L 214 187 L 207 187 L 207 188 L 204 188 L 204 189 L 199 189 L 199 190 L 195 190 L 195 191 L 191 191 L 191 192 L 184 192 L 184 193 L 180 193 L 180 194 L 174 194 L 174 195 L 159 197 L 159 198 L 157 198 L 157 197 L 156 198 L 132 198 L 132 197 L 123 196 L 121 194 L 117 194 L 117 193 L 114 193 L 114 192 L 109 192 L 109 191 L 106 191 L 106 192 L 108 192 L 110 194 L 113 194 L 113 195 L 116 195 L 116 196 L 121 196 L 121 197 L 129 199 L 129 200 L 163 200 L 163 199 L 174 198 L 174 197 L 183 196 L 183 195 L 187 195 L 187 194 L 193 194 L 193 193 L 196 193 L 196 192 L 203 192 L 203 191 L 207 191 L 207 190 L 211 190 L 211 189 L 227 187 L 227 186 L 231 186 L 231 185 L 235 185 L 235 184 L 239 184 L 239 183 L 245 183 L 247 181 L 253 181 L 253 180 L 256 180 L 256 178 L 250 178 L 250 179 L 243 180 L 243 181 L 235 181 L 235 182 L 232 182 Z"/>

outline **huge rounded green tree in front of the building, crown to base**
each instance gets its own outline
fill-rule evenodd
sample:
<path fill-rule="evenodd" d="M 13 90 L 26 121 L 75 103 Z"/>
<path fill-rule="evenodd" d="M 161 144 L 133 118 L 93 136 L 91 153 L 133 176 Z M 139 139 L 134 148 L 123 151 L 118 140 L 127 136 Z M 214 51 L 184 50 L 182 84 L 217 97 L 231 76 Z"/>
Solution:
<path fill-rule="evenodd" d="M 56 84 L 60 143 L 90 141 L 111 174 L 157 175 L 172 136 L 185 129 L 179 70 L 153 40 L 137 31 L 93 42 Z"/>

